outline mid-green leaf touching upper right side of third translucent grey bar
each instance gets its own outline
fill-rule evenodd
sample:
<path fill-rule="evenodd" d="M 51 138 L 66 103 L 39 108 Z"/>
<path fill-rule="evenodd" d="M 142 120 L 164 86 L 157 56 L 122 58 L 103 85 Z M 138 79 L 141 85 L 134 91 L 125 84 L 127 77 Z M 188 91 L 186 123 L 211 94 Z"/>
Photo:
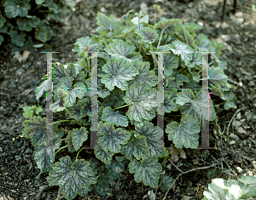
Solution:
<path fill-rule="evenodd" d="M 178 67 L 178 56 L 172 53 L 166 53 L 163 57 L 164 60 L 164 74 L 167 77 L 172 75 L 172 69 L 177 69 Z"/>

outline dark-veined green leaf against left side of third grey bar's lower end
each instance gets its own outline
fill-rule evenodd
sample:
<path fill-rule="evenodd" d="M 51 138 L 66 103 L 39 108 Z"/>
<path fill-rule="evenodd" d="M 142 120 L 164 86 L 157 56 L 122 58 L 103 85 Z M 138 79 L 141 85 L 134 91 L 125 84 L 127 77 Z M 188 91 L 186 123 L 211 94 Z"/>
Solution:
<path fill-rule="evenodd" d="M 160 157 L 163 155 L 163 147 L 165 146 L 163 140 L 163 131 L 154 127 L 153 123 L 145 123 L 142 127 L 135 127 L 136 133 L 146 137 L 145 145 L 150 147 L 149 156 Z"/>

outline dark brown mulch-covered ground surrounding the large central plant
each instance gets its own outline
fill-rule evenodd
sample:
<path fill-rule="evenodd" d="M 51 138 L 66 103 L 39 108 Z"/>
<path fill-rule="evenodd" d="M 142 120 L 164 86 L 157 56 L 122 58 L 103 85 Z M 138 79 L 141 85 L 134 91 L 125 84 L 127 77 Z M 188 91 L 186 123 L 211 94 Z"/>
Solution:
<path fill-rule="evenodd" d="M 169 193 L 156 193 L 156 199 L 201 199 L 203 191 L 213 178 L 237 180 L 242 174 L 256 174 L 256 13 L 252 6 L 256 1 L 245 0 L 237 3 L 236 14 L 232 13 L 233 1 L 227 1 L 227 13 L 224 22 L 221 21 L 223 1 L 77 1 L 76 11 L 66 16 L 65 23 L 55 25 L 57 37 L 49 42 L 54 54 L 54 62 L 62 64 L 78 60 L 78 55 L 72 52 L 73 43 L 79 37 L 89 36 L 96 30 L 96 13 L 114 14 L 117 18 L 134 9 L 147 10 L 152 16 L 152 5 L 157 3 L 165 13 L 166 18 L 182 19 L 183 22 L 195 22 L 203 25 L 202 33 L 212 40 L 223 43 L 226 50 L 220 55 L 228 63 L 225 74 L 229 83 L 235 85 L 237 96 L 236 109 L 225 111 L 223 105 L 216 107 L 218 124 L 227 140 L 212 134 L 211 146 L 217 144 L 217 150 L 183 150 L 183 157 L 172 152 L 170 160 L 178 169 L 214 167 L 198 169 L 181 175 L 176 181 L 175 190 Z M 153 19 L 153 18 L 152 18 Z M 199 33 L 201 33 L 199 32 Z M 58 194 L 57 186 L 48 186 L 48 174 L 39 174 L 34 162 L 34 149 L 31 141 L 21 137 L 24 129 L 21 124 L 20 106 L 41 105 L 45 107 L 45 98 L 36 100 L 34 89 L 41 83 L 41 77 L 46 73 L 46 54 L 39 54 L 39 49 L 29 48 L 29 55 L 21 56 L 22 60 L 11 52 L 9 46 L 1 47 L 0 60 L 0 199 L 64 199 Z M 20 52 L 22 55 L 23 52 Z M 45 111 L 41 113 L 45 116 Z M 181 150 L 180 150 L 181 151 Z M 61 155 L 60 155 L 61 156 Z M 163 169 L 166 174 L 176 179 L 181 173 L 167 160 Z M 120 174 L 121 188 L 113 183 L 107 197 L 89 193 L 82 199 L 148 199 L 151 189 L 133 180 L 133 174 L 126 170 Z"/>

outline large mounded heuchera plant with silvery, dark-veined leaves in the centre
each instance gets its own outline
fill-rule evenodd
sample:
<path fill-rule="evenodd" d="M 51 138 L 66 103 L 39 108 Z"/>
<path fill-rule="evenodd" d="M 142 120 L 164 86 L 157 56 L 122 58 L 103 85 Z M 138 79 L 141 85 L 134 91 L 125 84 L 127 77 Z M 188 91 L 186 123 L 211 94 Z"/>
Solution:
<path fill-rule="evenodd" d="M 108 181 L 117 180 L 125 169 L 145 186 L 157 187 L 159 179 L 168 178 L 163 175 L 160 163 L 166 157 L 165 144 L 160 140 L 164 130 L 156 126 L 158 57 L 150 52 L 168 52 L 163 57 L 164 87 L 172 90 L 164 92 L 165 132 L 177 148 L 199 145 L 201 105 L 208 106 L 208 101 L 201 100 L 201 90 L 177 91 L 201 88 L 202 55 L 195 51 L 215 51 L 210 54 L 209 64 L 209 121 L 219 134 L 212 98 L 225 100 L 227 109 L 234 107 L 234 97 L 227 92 L 230 85 L 224 75 L 226 62 L 218 60 L 224 46 L 209 41 L 203 34 L 197 35 L 195 31 L 201 26 L 159 19 L 161 9 L 158 5 L 154 9 L 154 24 L 148 23 L 148 14 L 143 12 L 132 16 L 130 11 L 120 20 L 98 13 L 99 35 L 80 37 L 74 44 L 73 52 L 81 59 L 66 65 L 53 64 L 53 87 L 57 90 L 50 109 L 66 118 L 53 123 L 53 145 L 46 142 L 46 117 L 34 117 L 23 123 L 22 133 L 32 139 L 38 168 L 41 173 L 49 172 L 48 182 L 60 186 L 59 192 L 67 199 L 78 194 L 84 196 L 88 191 L 106 196 Z M 93 55 L 89 52 L 100 52 L 98 140 L 93 153 L 83 154 L 80 152 L 84 146 L 90 146 L 90 90 L 68 89 L 90 89 L 96 84 L 90 81 Z M 35 89 L 37 99 L 44 94 L 48 81 Z M 69 129 L 64 129 L 63 123 L 69 123 Z M 64 142 L 67 146 L 63 146 Z M 55 154 L 64 148 L 68 148 L 67 156 L 55 162 Z M 166 191 L 165 184 L 170 181 L 163 181 L 161 191 Z"/>

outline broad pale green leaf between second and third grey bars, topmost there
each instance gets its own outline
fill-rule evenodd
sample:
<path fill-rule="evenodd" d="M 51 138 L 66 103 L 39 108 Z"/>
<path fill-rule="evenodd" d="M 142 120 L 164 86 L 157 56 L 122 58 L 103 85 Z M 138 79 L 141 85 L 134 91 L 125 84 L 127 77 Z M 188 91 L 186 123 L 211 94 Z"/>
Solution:
<path fill-rule="evenodd" d="M 119 39 L 113 39 L 113 43 L 109 43 L 105 51 L 113 56 L 113 58 L 123 58 L 128 62 L 132 60 L 142 60 L 141 54 L 133 53 L 135 49 L 133 45 L 129 45 Z"/>

